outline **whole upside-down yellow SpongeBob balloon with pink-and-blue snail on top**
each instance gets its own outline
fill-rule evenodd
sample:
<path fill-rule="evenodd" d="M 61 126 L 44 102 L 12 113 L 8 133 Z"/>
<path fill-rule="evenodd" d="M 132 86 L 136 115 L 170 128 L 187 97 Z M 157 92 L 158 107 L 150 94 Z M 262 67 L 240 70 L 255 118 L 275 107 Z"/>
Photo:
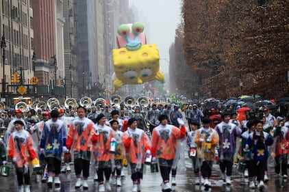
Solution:
<path fill-rule="evenodd" d="M 142 84 L 158 80 L 164 83 L 160 72 L 160 56 L 156 44 L 147 44 L 142 23 L 123 24 L 117 29 L 118 48 L 112 51 L 114 62 L 114 90 L 123 85 Z"/>

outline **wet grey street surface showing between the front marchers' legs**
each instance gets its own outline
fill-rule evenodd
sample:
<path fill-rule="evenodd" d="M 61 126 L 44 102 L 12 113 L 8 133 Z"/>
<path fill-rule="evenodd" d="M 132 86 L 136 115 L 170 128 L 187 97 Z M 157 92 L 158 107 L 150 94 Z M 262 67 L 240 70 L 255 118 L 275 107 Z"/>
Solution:
<path fill-rule="evenodd" d="M 11 164 L 10 165 L 10 176 L 8 177 L 0 177 L 0 191 L 18 191 L 17 180 L 14 174 L 14 169 Z M 92 167 L 92 166 L 91 166 Z M 162 191 L 161 189 L 161 176 L 160 172 L 151 173 L 149 166 L 147 166 L 146 173 L 144 175 L 143 180 L 141 181 L 141 191 L 149 192 L 149 191 Z M 73 169 L 73 166 L 72 166 Z M 279 191 L 288 191 L 288 181 L 284 181 L 281 178 L 275 178 L 273 168 L 270 169 L 270 180 L 266 183 L 264 191 L 270 192 L 279 192 Z M 76 176 L 75 172 L 71 172 L 69 174 L 61 174 L 60 180 L 62 181 L 61 186 L 58 188 L 53 187 L 53 189 L 49 189 L 46 183 L 36 182 L 36 176 L 32 175 L 31 178 L 31 191 L 98 191 L 97 182 L 93 181 L 94 171 L 91 170 L 90 178 L 88 178 L 88 190 L 83 190 L 82 187 L 80 189 L 75 189 Z M 125 178 L 122 179 L 122 187 L 116 187 L 111 184 L 112 191 L 131 191 L 132 182 L 130 176 L 127 174 L 127 169 L 125 168 Z M 213 173 L 212 173 L 212 189 L 209 191 L 238 191 L 238 192 L 253 192 L 258 191 L 257 189 L 249 189 L 248 182 L 238 174 L 238 167 L 234 166 L 234 172 L 231 176 L 232 185 L 228 186 L 223 184 L 221 180 L 221 172 L 218 165 L 214 165 Z M 194 174 L 192 171 L 192 165 L 190 163 L 190 159 L 185 157 L 185 160 L 179 162 L 178 172 L 177 172 L 177 192 L 186 192 L 186 191 L 205 191 L 202 186 L 194 185 Z"/>

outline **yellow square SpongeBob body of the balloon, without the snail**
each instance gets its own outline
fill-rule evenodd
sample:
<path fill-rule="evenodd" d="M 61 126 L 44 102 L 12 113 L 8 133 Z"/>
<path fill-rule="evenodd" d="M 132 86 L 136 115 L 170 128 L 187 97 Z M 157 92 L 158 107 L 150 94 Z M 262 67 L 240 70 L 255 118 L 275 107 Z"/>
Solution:
<path fill-rule="evenodd" d="M 128 51 L 126 48 L 114 49 L 112 59 L 116 75 L 114 90 L 123 85 L 142 84 L 154 80 L 164 83 L 156 44 L 142 44 L 136 51 Z"/>

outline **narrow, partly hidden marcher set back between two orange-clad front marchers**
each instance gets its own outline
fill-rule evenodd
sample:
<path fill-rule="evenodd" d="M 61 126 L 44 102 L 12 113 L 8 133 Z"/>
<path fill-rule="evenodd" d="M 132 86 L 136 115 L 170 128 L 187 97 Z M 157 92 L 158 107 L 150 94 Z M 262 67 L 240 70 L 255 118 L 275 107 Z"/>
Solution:
<path fill-rule="evenodd" d="M 112 184 L 121 187 L 121 171 L 123 170 L 123 132 L 118 130 L 118 121 L 110 121 L 110 126 L 114 132 L 114 138 L 118 143 L 116 152 L 114 153 L 114 166 L 112 169 Z M 116 172 L 116 178 L 115 178 Z"/>

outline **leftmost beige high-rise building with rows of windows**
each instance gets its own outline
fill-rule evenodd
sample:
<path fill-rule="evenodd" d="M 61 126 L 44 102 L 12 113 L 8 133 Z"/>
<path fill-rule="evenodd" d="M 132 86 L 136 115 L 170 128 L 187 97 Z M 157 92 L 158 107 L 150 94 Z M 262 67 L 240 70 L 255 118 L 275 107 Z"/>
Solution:
<path fill-rule="evenodd" d="M 4 70 L 5 96 L 16 94 L 16 87 L 11 85 L 11 75 L 21 75 L 21 83 L 29 83 L 34 75 L 32 55 L 34 40 L 33 11 L 28 0 L 3 0 L 1 2 L 0 33 L 5 38 L 5 61 L 0 59 Z M 1 49 L 1 55 L 3 55 Z M 2 70 L 1 70 L 2 71 Z M 3 72 L 0 73 L 3 79 Z M 2 87 L 3 89 L 3 87 Z M 3 92 L 3 90 L 2 90 Z"/>

